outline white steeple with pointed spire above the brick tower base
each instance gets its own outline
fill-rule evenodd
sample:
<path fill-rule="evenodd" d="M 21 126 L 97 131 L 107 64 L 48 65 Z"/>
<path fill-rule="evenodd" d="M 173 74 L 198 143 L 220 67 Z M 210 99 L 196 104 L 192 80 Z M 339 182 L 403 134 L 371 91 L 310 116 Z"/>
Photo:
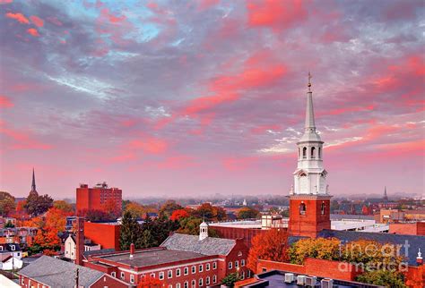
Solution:
<path fill-rule="evenodd" d="M 327 195 L 325 184 L 327 172 L 323 168 L 323 141 L 316 131 L 311 91 L 311 74 L 308 72 L 308 92 L 304 134 L 297 143 L 298 166 L 294 172 L 294 188 L 291 195 Z"/>

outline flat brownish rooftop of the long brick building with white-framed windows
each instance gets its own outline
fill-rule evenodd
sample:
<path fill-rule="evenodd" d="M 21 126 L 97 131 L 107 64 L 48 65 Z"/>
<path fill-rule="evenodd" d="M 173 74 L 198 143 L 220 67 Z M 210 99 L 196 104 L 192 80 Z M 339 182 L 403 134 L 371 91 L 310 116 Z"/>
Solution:
<path fill-rule="evenodd" d="M 136 250 L 132 259 L 130 259 L 130 252 L 98 256 L 98 259 L 103 258 L 109 261 L 130 265 L 132 267 L 150 267 L 204 257 L 204 254 L 190 251 L 155 249 Z"/>

